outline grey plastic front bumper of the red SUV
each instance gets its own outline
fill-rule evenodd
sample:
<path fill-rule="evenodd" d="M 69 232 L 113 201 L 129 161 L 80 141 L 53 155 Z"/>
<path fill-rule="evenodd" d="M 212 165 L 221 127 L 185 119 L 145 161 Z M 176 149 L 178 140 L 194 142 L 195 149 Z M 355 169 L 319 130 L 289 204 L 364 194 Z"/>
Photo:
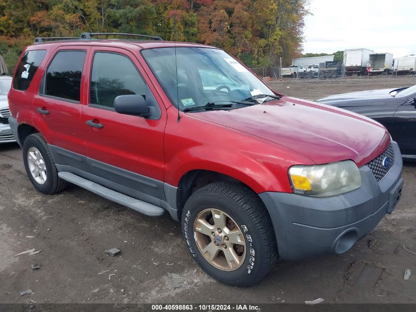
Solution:
<path fill-rule="evenodd" d="M 401 196 L 403 161 L 392 141 L 395 163 L 377 182 L 362 166 L 361 187 L 338 196 L 312 196 L 265 192 L 259 194 L 273 222 L 279 255 L 297 260 L 322 254 L 341 254 L 370 233 L 391 213 Z"/>

